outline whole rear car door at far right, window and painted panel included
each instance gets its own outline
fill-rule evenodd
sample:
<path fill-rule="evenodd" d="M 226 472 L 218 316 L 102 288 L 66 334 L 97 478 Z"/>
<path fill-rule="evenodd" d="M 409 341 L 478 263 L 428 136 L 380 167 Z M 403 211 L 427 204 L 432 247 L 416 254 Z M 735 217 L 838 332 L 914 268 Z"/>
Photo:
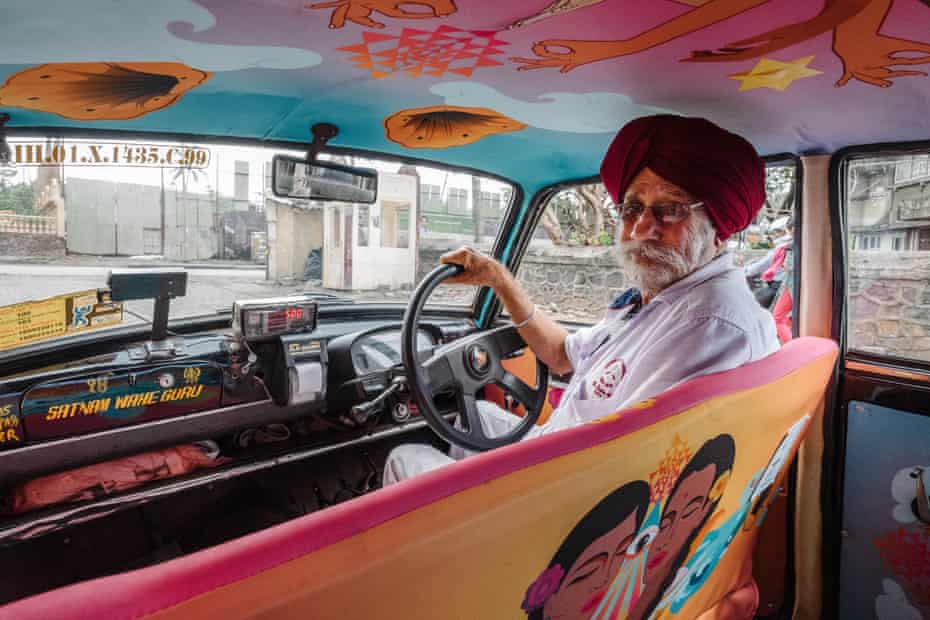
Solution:
<path fill-rule="evenodd" d="M 833 169 L 845 352 L 824 465 L 836 500 L 824 591 L 836 593 L 831 616 L 928 618 L 930 149 L 848 150 Z"/>

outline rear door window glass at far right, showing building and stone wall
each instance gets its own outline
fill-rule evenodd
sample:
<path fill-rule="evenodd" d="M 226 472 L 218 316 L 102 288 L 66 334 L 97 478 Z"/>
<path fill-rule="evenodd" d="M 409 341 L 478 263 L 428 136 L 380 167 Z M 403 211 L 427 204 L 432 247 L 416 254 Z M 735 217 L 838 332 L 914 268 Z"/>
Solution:
<path fill-rule="evenodd" d="M 930 361 L 927 154 L 846 166 L 850 350 Z"/>

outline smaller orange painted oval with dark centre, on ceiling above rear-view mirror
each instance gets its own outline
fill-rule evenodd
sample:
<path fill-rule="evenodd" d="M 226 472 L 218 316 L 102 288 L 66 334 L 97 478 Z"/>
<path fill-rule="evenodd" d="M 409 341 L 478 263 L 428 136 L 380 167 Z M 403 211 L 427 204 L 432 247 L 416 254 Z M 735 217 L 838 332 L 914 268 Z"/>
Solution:
<path fill-rule="evenodd" d="M 433 106 L 401 110 L 384 119 L 388 140 L 411 149 L 463 146 L 526 125 L 489 108 Z"/>

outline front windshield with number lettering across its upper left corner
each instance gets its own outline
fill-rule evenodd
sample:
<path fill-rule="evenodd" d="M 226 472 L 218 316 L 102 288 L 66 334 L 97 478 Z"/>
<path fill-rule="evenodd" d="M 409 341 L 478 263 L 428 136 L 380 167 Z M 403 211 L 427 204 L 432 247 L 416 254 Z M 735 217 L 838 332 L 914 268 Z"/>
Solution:
<path fill-rule="evenodd" d="M 287 199 L 270 190 L 271 162 L 303 156 L 296 151 L 111 138 L 10 146 L 15 165 L 0 169 L 0 306 L 86 299 L 106 287 L 110 270 L 125 268 L 187 270 L 173 319 L 303 293 L 405 302 L 443 252 L 489 251 L 513 196 L 506 183 L 438 166 L 324 154 L 377 170 L 377 201 Z M 431 302 L 468 306 L 474 295 L 440 287 Z M 123 311 L 121 320 L 101 312 L 108 318 L 95 326 L 147 321 L 152 302 Z M 5 314 L 14 324 L 15 310 Z M 0 334 L 0 349 L 28 341 Z"/>

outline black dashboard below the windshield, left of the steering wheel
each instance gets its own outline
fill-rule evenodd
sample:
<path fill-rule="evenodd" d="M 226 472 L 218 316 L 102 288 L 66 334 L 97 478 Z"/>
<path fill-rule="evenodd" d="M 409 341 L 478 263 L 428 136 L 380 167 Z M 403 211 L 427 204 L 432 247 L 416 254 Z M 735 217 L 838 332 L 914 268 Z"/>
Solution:
<path fill-rule="evenodd" d="M 437 320 L 423 327 L 427 349 L 473 329 L 469 321 L 461 319 Z M 73 350 L 68 351 L 71 356 L 59 351 L 55 356 L 43 356 L 44 364 L 34 363 L 28 370 L 22 364 L 15 374 L 0 377 L 0 483 L 270 422 L 314 414 L 339 420 L 348 408 L 382 392 L 398 372 L 399 367 L 386 366 L 399 359 L 399 333 L 400 322 L 396 320 L 322 318 L 317 329 L 306 336 L 312 336 L 323 349 L 324 355 L 317 358 L 325 364 L 326 396 L 300 404 L 272 398 L 276 391 L 289 389 L 290 376 L 285 374 L 289 366 L 281 354 L 281 343 L 237 346 L 228 328 L 212 329 L 178 336 L 172 339 L 170 353 L 162 351 L 161 357 L 147 358 L 144 341 L 121 341 L 119 335 L 110 340 L 98 334 L 97 346 L 90 355 L 78 358 L 73 356 Z M 355 347 L 356 353 L 364 351 L 369 356 L 368 368 L 378 370 L 358 372 L 365 369 L 356 368 L 352 351 L 360 339 L 362 344 Z M 374 350 L 369 351 L 370 347 Z M 86 348 L 81 350 L 91 353 Z M 291 360 L 296 357 L 291 355 Z M 27 355 L 23 359 L 30 358 Z M 205 384 L 202 390 L 197 387 L 199 383 Z M 201 391 L 208 391 L 206 383 L 218 392 L 208 403 L 198 398 Z M 41 386 L 52 389 L 42 391 Z M 55 391 L 60 389 L 81 390 L 83 395 Z M 22 423 L 23 397 L 30 392 L 42 396 L 41 402 L 30 401 L 30 415 L 38 416 L 36 421 L 42 418 L 38 426 L 31 427 L 54 425 L 57 420 L 44 419 L 51 416 L 64 420 L 68 429 L 58 425 L 60 433 L 24 433 L 29 428 Z M 104 407 L 108 398 L 111 400 Z M 161 411 L 147 415 L 146 407 L 160 407 Z M 102 413 L 126 412 L 136 417 L 111 415 L 106 424 L 88 422 Z M 72 433 L 70 425 L 79 416 L 86 419 Z M 379 416 L 378 423 L 391 421 Z"/>

